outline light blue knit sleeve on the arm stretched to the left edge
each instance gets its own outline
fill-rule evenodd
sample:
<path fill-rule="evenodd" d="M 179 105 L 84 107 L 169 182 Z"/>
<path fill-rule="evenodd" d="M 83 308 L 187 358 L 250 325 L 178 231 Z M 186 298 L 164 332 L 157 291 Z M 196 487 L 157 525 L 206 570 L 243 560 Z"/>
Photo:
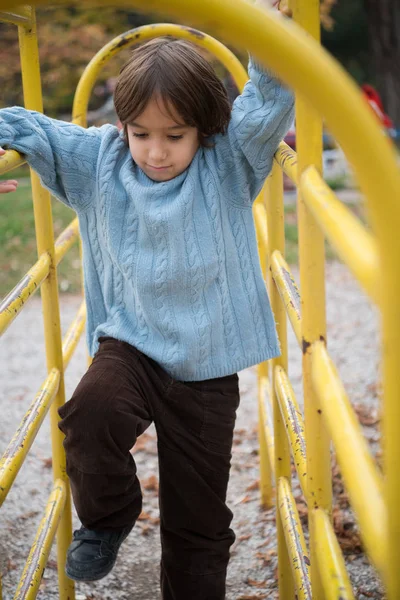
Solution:
<path fill-rule="evenodd" d="M 23 154 L 42 184 L 76 211 L 94 198 L 102 129 L 84 129 L 21 107 L 0 110 L 0 146 Z"/>

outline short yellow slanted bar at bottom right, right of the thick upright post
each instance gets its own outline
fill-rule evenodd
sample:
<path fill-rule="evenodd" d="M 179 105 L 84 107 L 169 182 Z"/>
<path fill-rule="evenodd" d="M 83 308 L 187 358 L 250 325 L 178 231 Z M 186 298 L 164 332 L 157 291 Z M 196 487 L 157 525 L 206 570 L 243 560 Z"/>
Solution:
<path fill-rule="evenodd" d="M 332 523 L 320 508 L 314 512 L 318 569 L 326 600 L 354 600 Z"/>

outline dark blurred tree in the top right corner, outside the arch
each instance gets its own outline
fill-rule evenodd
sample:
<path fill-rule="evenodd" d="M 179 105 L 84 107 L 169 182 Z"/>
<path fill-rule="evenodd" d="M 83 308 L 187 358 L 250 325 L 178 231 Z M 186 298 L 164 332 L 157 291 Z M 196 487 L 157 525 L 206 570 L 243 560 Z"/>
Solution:
<path fill-rule="evenodd" d="M 399 0 L 321 0 L 323 44 L 360 83 L 376 85 L 400 127 Z"/>

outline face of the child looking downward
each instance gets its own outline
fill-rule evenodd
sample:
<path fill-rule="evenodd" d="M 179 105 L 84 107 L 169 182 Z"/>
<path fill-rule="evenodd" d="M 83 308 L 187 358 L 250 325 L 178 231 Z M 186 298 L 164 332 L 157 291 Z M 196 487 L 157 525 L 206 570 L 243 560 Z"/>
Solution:
<path fill-rule="evenodd" d="M 188 168 L 199 148 L 196 127 L 185 125 L 173 106 L 153 97 L 127 126 L 135 163 L 154 181 L 169 181 Z"/>

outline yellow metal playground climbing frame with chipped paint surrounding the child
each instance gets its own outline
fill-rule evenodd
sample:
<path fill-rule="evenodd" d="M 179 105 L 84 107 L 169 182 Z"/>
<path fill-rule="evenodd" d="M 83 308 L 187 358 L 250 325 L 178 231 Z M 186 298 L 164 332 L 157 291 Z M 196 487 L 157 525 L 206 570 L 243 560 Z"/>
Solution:
<path fill-rule="evenodd" d="M 37 2 L 39 4 L 39 2 Z M 45 2 L 43 2 L 45 3 Z M 52 2 L 52 4 L 57 2 Z M 100 0 L 97 1 L 101 5 Z M 265 197 L 254 207 L 260 258 L 278 323 L 282 356 L 259 366 L 261 496 L 272 504 L 275 478 L 279 597 L 281 600 L 353 598 L 331 524 L 330 444 L 333 442 L 366 552 L 387 589 L 389 600 L 400 591 L 400 173 L 390 143 L 362 100 L 356 86 L 318 46 L 318 0 L 294 0 L 298 25 L 284 22 L 242 0 L 114 0 L 120 7 L 168 12 L 196 21 L 242 49 L 248 49 L 291 85 L 297 96 L 297 156 L 281 145 L 276 153 Z M 19 27 L 21 65 L 28 108 L 42 110 L 35 15 L 15 0 L 0 0 L 0 19 Z M 161 25 L 124 34 L 90 63 L 78 86 L 74 119 L 85 124 L 90 90 L 105 60 L 119 47 L 154 35 L 187 37 L 207 47 L 225 64 L 239 86 L 245 74 L 218 42 L 193 29 Z M 315 38 L 313 40 L 312 38 Z M 326 186 L 321 171 L 322 117 L 352 164 L 366 197 L 374 236 L 342 206 Z M 360 145 L 360 140 L 362 144 Z M 15 152 L 0 159 L 0 172 L 23 161 Z M 298 187 L 300 289 L 284 260 L 282 170 Z M 55 484 L 33 543 L 15 599 L 34 598 L 57 530 L 59 590 L 62 600 L 74 598 L 73 583 L 64 575 L 71 536 L 68 481 L 57 408 L 64 402 L 64 370 L 82 332 L 84 307 L 61 340 L 56 266 L 77 237 L 77 222 L 53 241 L 50 199 L 32 174 L 38 243 L 37 263 L 4 300 L 0 311 L 3 332 L 41 285 L 45 315 L 48 377 L 26 413 L 0 462 L 0 502 L 3 502 L 22 461 L 50 408 Z M 265 200 L 265 202 L 264 202 Z M 335 247 L 382 317 L 384 473 L 369 454 L 357 419 L 326 347 L 324 237 Z M 287 376 L 286 316 L 303 353 L 304 417 Z M 266 401 L 273 409 L 273 427 Z M 272 433 L 273 431 L 273 433 Z M 291 493 L 290 454 L 309 509 L 309 552 Z"/>

